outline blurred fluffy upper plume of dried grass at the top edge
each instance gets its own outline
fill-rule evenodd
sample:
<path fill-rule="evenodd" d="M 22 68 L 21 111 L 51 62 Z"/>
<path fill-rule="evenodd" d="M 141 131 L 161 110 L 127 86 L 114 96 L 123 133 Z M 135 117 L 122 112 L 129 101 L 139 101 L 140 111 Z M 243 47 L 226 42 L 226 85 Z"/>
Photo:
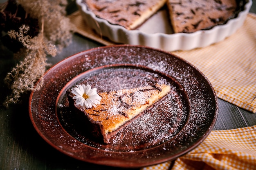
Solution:
<path fill-rule="evenodd" d="M 66 17 L 67 0 L 16 0 L 32 18 L 44 21 L 44 36 L 57 45 L 59 51 L 72 41 L 75 27 Z"/>

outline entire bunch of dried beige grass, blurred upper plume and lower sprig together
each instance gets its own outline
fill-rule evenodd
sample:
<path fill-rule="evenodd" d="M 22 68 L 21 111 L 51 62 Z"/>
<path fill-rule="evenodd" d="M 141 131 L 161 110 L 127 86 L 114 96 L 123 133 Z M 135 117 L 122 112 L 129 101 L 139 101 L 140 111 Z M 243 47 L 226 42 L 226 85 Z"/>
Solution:
<path fill-rule="evenodd" d="M 12 90 L 4 103 L 7 107 L 11 103 L 18 103 L 23 93 L 37 90 L 43 85 L 43 74 L 49 66 L 46 56 L 55 56 L 57 49 L 61 51 L 69 45 L 75 31 L 75 26 L 65 16 L 67 0 L 16 0 L 16 3 L 26 11 L 26 16 L 29 14 L 31 18 L 38 19 L 41 27 L 40 33 L 34 37 L 27 34 L 29 27 L 26 25 L 22 25 L 19 31 L 8 32 L 24 48 L 14 54 L 22 56 L 18 58 L 23 60 L 4 79 Z M 42 81 L 35 87 L 39 78 Z"/>

